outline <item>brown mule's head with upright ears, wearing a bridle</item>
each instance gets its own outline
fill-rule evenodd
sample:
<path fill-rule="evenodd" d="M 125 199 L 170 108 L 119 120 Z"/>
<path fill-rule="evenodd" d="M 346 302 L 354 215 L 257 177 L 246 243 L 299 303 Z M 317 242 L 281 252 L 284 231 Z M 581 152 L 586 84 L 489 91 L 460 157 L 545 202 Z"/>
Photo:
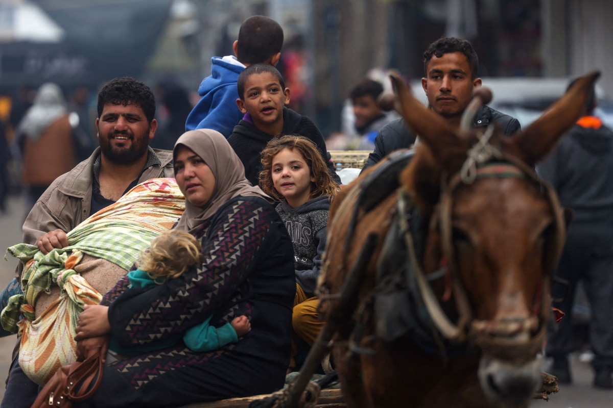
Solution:
<path fill-rule="evenodd" d="M 482 388 L 492 398 L 522 401 L 539 379 L 535 358 L 565 231 L 555 194 L 532 167 L 576 122 L 598 75 L 577 81 L 523 132 L 503 136 L 490 127 L 487 141 L 476 130 L 449 127 L 392 78 L 400 113 L 421 141 L 401 184 L 431 217 L 425 257 L 446 258 L 457 308 L 469 311 L 466 330 L 483 354 Z M 438 264 L 424 259 L 425 272 Z"/>

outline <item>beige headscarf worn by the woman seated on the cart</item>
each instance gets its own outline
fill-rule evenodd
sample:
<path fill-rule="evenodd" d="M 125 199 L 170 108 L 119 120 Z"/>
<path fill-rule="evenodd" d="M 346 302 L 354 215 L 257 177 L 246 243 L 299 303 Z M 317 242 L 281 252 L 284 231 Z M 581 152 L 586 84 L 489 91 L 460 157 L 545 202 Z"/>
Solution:
<path fill-rule="evenodd" d="M 245 178 L 245 168 L 240 158 L 234 153 L 226 138 L 210 129 L 190 130 L 183 133 L 175 143 L 173 157 L 177 156 L 179 146 L 188 147 L 200 156 L 211 168 L 215 176 L 215 188 L 211 199 L 203 207 L 194 206 L 185 201 L 185 212 L 175 228 L 193 232 L 205 220 L 215 213 L 230 199 L 236 196 L 257 196 L 273 202 L 259 187 L 253 187 Z"/>

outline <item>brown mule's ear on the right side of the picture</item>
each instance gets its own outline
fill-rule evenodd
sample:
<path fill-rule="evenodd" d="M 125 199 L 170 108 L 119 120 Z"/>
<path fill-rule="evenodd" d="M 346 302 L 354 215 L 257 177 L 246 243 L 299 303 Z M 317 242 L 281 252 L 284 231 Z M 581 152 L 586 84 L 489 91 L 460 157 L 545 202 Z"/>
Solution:
<path fill-rule="evenodd" d="M 600 72 L 582 76 L 566 94 L 551 105 L 545 113 L 524 132 L 517 133 L 508 143 L 508 152 L 535 165 L 555 146 L 560 136 L 571 127 L 584 111 L 585 102 Z"/>

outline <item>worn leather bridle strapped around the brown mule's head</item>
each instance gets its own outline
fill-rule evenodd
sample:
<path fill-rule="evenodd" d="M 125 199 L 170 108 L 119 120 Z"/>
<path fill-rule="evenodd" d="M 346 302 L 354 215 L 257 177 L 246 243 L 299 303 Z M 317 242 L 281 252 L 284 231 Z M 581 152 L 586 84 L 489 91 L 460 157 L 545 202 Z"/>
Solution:
<path fill-rule="evenodd" d="M 562 252 L 565 241 L 565 222 L 563 220 L 562 207 L 558 202 L 554 189 L 541 180 L 536 172 L 523 161 L 504 154 L 497 147 L 489 143 L 489 138 L 493 132 L 490 127 L 479 139 L 471 150 L 468 151 L 462 170 L 446 182 L 447 177 L 442 177 L 441 199 L 439 206 L 439 227 L 441 232 L 441 247 L 443 257 L 447 259 L 449 273 L 451 273 L 452 294 L 458 313 L 457 322 L 452 322 L 436 299 L 432 287 L 428 283 L 417 254 L 414 250 L 413 237 L 410 233 L 408 221 L 402 214 L 406 213 L 410 198 L 408 193 L 401 191 L 398 197 L 398 217 L 405 245 L 408 248 L 409 258 L 415 272 L 415 280 L 419 289 L 422 302 L 430 314 L 430 318 L 438 332 L 444 338 L 453 342 L 463 342 L 470 336 L 474 343 L 482 351 L 489 355 L 505 358 L 506 360 L 521 360 L 524 356 L 534 355 L 542 346 L 546 335 L 547 324 L 551 314 L 550 307 L 550 280 L 555 263 Z M 495 168 L 495 169 L 492 169 Z M 476 179 L 490 177 L 519 177 L 533 182 L 549 203 L 554 217 L 554 232 L 550 236 L 552 242 L 548 247 L 551 251 L 547 262 L 544 265 L 545 273 L 543 283 L 540 287 L 539 299 L 535 300 L 538 306 L 538 315 L 531 316 L 525 321 L 517 322 L 495 322 L 479 321 L 473 318 L 468 295 L 463 287 L 457 265 L 454 263 L 455 250 L 452 236 L 452 208 L 454 204 L 455 191 L 462 185 L 471 184 Z M 536 307 L 535 307 L 536 309 Z M 528 339 L 518 341 L 514 339 L 518 333 L 529 333 Z"/>

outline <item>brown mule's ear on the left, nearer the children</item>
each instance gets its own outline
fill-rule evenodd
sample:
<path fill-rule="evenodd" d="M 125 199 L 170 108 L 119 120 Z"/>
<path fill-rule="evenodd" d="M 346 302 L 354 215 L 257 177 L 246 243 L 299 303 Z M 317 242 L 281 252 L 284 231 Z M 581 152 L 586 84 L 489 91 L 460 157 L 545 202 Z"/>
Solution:
<path fill-rule="evenodd" d="M 425 143 L 441 168 L 456 171 L 466 159 L 468 144 L 460 138 L 443 119 L 427 109 L 409 89 L 409 86 L 397 75 L 390 75 L 397 98 L 398 113 L 405 119 L 406 125 L 419 136 L 420 143 Z"/>

